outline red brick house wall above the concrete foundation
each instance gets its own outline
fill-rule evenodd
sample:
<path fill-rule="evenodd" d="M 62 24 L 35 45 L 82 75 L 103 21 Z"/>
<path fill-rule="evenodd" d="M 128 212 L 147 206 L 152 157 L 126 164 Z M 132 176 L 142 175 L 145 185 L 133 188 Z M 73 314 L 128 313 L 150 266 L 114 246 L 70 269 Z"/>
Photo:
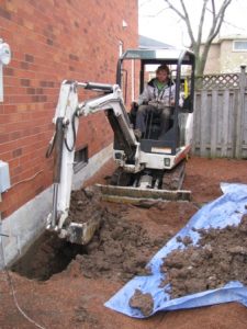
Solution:
<path fill-rule="evenodd" d="M 52 183 L 45 151 L 60 82 L 114 83 L 119 41 L 137 46 L 137 0 L 0 1 L 0 37 L 12 50 L 0 103 L 0 159 L 9 162 L 12 184 L 2 194 L 2 217 Z M 80 120 L 77 144 L 89 145 L 89 157 L 111 140 L 103 113 Z"/>

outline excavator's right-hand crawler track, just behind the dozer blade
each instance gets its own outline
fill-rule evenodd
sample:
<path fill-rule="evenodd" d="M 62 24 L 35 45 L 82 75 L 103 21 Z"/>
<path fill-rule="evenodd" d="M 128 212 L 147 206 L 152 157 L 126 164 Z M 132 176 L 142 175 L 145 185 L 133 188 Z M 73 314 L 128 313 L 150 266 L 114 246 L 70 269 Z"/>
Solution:
<path fill-rule="evenodd" d="M 186 174 L 186 160 L 182 160 L 172 170 L 166 171 L 162 177 L 162 190 L 176 191 L 182 188 Z"/>

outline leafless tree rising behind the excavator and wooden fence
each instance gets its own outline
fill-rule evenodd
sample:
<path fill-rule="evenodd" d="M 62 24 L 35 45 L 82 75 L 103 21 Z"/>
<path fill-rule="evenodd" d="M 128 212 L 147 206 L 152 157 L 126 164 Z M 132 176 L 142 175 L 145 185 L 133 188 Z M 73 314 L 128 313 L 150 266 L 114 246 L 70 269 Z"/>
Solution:
<path fill-rule="evenodd" d="M 189 11 L 186 7 L 184 0 L 179 0 L 180 1 L 180 7 L 176 7 L 171 0 L 164 0 L 170 10 L 176 12 L 177 15 L 184 22 L 188 34 L 190 37 L 191 42 L 191 49 L 195 54 L 195 75 L 197 76 L 202 76 L 204 68 L 205 68 L 205 63 L 206 63 L 206 57 L 210 50 L 210 46 L 212 44 L 212 41 L 215 38 L 215 36 L 218 34 L 222 23 L 224 21 L 225 16 L 225 11 L 232 0 L 223 0 L 221 7 L 216 10 L 215 7 L 215 0 L 203 0 L 202 1 L 202 9 L 201 9 L 201 15 L 200 15 L 200 21 L 199 21 L 199 26 L 195 32 L 193 32 L 191 20 L 189 16 Z M 217 0 L 218 1 L 218 0 Z M 192 3 L 192 2 L 191 2 Z M 191 8 L 193 10 L 193 8 Z M 203 27 L 205 23 L 205 13 L 209 12 L 211 14 L 211 25 L 209 27 L 209 33 L 205 37 L 204 45 L 202 45 L 202 34 L 203 34 Z"/>

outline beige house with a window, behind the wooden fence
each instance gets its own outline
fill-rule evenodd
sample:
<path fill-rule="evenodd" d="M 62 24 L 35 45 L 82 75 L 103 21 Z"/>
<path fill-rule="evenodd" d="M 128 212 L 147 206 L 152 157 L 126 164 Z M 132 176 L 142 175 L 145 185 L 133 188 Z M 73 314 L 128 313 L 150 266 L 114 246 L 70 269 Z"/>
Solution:
<path fill-rule="evenodd" d="M 247 36 L 224 36 L 211 44 L 204 75 L 239 72 L 242 65 L 247 65 Z"/>

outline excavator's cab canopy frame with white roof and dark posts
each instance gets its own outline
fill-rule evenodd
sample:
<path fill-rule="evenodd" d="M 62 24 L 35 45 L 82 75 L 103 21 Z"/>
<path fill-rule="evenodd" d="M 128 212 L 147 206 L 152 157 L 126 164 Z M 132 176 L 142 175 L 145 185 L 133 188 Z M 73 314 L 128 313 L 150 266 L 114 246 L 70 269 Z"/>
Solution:
<path fill-rule="evenodd" d="M 139 66 L 139 93 L 143 92 L 145 86 L 145 69 L 148 65 L 169 65 L 172 66 L 172 72 L 175 73 L 173 82 L 176 84 L 176 95 L 175 95 L 175 106 L 173 106 L 173 124 L 171 128 L 166 133 L 162 140 L 142 140 L 141 147 L 145 151 L 150 151 L 151 147 L 155 145 L 157 147 L 169 146 L 171 148 L 171 154 L 175 155 L 178 143 L 179 143 L 179 123 L 178 115 L 181 112 L 192 113 L 193 112 L 193 99 L 194 99 L 194 65 L 195 57 L 194 54 L 188 49 L 177 49 L 173 47 L 166 48 L 145 48 L 145 49 L 128 49 L 126 50 L 117 61 L 116 70 L 116 83 L 121 89 L 126 89 L 127 79 L 125 79 L 125 84 L 122 86 L 122 73 L 126 71 L 124 69 L 123 63 L 125 60 L 137 60 Z M 184 76 L 182 66 L 190 66 L 190 69 Z M 137 71 L 136 71 L 137 72 Z M 183 75 L 183 76 L 182 76 Z M 182 87 L 184 87 L 184 81 L 189 81 L 189 92 L 186 95 L 184 88 L 184 101 L 182 107 L 179 105 L 180 92 L 182 92 Z M 124 84 L 124 83 L 123 83 Z"/>

